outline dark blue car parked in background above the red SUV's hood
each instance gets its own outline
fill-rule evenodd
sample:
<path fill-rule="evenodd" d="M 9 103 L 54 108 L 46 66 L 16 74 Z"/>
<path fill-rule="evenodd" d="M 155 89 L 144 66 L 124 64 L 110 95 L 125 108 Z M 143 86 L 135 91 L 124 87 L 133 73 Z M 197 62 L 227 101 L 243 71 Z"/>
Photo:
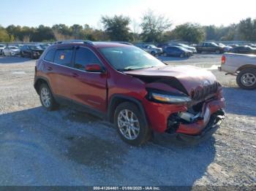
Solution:
<path fill-rule="evenodd" d="M 167 46 L 163 50 L 165 56 L 186 58 L 192 55 L 192 51 L 180 46 Z"/>

